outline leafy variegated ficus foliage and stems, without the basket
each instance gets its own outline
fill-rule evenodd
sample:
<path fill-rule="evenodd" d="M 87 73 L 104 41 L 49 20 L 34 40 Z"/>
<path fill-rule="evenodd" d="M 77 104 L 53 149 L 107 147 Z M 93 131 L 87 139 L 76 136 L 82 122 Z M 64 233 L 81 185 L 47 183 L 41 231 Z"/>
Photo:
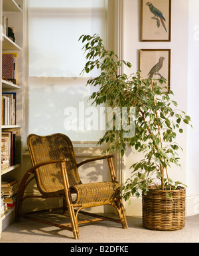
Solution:
<path fill-rule="evenodd" d="M 176 133 L 183 132 L 182 123 L 190 124 L 190 116 L 177 110 L 177 102 L 170 99 L 173 92 L 165 90 L 165 78 L 141 79 L 139 71 L 129 76 L 121 74 L 121 66 L 131 68 L 131 63 L 120 60 L 113 51 L 107 51 L 99 35 L 82 35 L 79 40 L 84 43 L 82 49 L 87 60 L 82 72 L 89 73 L 94 68 L 100 70 L 99 76 L 87 82 L 99 86 L 99 90 L 90 96 L 92 104 L 127 108 L 127 122 L 131 122 L 130 108 L 135 109 L 133 136 L 124 136 L 127 130 L 123 126 L 117 129 L 115 124 L 98 142 L 107 143 L 105 153 L 119 150 L 123 156 L 128 147 L 143 152 L 143 159 L 131 166 L 132 176 L 122 188 L 123 197 L 125 200 L 131 195 L 139 197 L 139 191 L 146 193 L 151 185 L 161 190 L 175 190 L 181 182 L 170 180 L 168 167 L 171 164 L 180 166 Z M 113 121 L 116 118 L 117 113 L 113 113 Z"/>

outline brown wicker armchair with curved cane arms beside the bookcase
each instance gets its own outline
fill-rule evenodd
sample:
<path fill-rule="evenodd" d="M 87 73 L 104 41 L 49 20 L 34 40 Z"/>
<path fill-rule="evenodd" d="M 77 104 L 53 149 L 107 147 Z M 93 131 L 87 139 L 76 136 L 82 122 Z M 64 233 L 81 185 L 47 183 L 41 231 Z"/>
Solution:
<path fill-rule="evenodd" d="M 30 134 L 27 138 L 27 143 L 33 166 L 27 171 L 19 185 L 15 209 L 15 221 L 20 221 L 20 217 L 25 217 L 48 225 L 54 225 L 61 229 L 72 231 L 75 239 L 80 239 L 78 225 L 82 223 L 110 220 L 121 223 L 124 229 L 128 227 L 120 197 L 121 186 L 115 178 L 115 171 L 113 169 L 113 156 L 103 156 L 77 164 L 72 142 L 64 134 L 52 134 L 49 136 Z M 109 182 L 82 184 L 78 174 L 78 167 L 82 166 L 82 164 L 101 159 L 107 160 L 112 180 Z M 33 175 L 32 178 L 31 175 Z M 27 185 L 34 178 L 41 195 L 24 196 Z M 72 201 L 73 193 L 76 194 L 74 201 Z M 44 221 L 31 216 L 33 213 L 52 211 L 52 209 L 21 213 L 23 201 L 29 197 L 62 197 L 63 213 L 69 214 L 70 223 L 59 225 L 58 223 Z M 80 211 L 83 208 L 98 205 L 113 205 L 115 209 L 117 209 L 119 219 L 112 219 L 93 213 L 86 213 L 86 211 Z M 78 213 L 91 215 L 94 218 L 78 221 Z"/>

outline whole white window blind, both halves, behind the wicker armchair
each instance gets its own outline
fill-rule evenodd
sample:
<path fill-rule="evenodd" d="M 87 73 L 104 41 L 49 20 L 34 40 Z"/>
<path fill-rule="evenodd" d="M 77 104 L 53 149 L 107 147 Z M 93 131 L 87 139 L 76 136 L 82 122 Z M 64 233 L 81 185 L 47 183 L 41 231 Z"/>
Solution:
<path fill-rule="evenodd" d="M 105 40 L 105 0 L 29 0 L 29 98 L 27 134 L 62 132 L 73 141 L 98 141 L 100 108 L 90 108 L 91 74 L 81 35 Z M 96 74 L 92 74 L 94 76 Z M 84 110 L 84 111 L 83 111 Z"/>

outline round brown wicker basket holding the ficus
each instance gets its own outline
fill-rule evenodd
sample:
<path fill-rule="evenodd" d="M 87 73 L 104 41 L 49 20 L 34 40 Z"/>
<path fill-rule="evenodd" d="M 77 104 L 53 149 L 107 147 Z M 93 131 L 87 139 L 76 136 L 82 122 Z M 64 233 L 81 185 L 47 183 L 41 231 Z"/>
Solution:
<path fill-rule="evenodd" d="M 172 193 L 173 201 L 166 197 Z M 143 225 L 148 229 L 172 231 L 185 225 L 186 189 L 176 190 L 149 189 L 143 195 Z"/>

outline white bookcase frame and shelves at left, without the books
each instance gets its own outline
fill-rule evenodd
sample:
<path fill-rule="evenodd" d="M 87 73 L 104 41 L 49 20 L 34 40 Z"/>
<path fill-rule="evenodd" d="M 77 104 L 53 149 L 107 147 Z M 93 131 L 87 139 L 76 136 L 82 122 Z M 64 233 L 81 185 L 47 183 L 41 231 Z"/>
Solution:
<path fill-rule="evenodd" d="M 0 124 L 1 133 L 5 130 L 12 129 L 17 130 L 22 138 L 22 124 L 23 124 L 23 0 L 0 0 L 0 15 L 1 15 L 1 55 L 0 62 L 2 67 L 2 53 L 17 53 L 17 84 L 13 84 L 8 80 L 4 80 L 2 77 L 2 69 L 0 70 L 0 97 L 1 97 L 1 112 L 0 112 Z M 13 42 L 5 33 L 3 33 L 3 16 L 7 17 L 8 27 L 14 28 L 15 42 Z M 3 92 L 15 92 L 16 93 L 16 124 L 15 125 L 3 125 L 2 120 L 2 93 Z M 0 135 L 1 136 L 1 135 Z M 21 142 L 21 140 L 20 140 Z M 21 144 L 21 143 L 19 143 Z M 20 146 L 20 145 L 19 145 Z M 21 181 L 22 178 L 22 156 L 20 147 L 17 149 L 20 156 L 17 164 L 10 166 L 5 170 L 1 170 L 0 182 L 3 178 L 13 178 L 17 181 Z M 0 188 L 1 190 L 1 188 Z M 1 217 L 0 221 L 0 235 L 1 232 L 13 221 L 15 209 L 9 210 L 5 215 Z"/>

